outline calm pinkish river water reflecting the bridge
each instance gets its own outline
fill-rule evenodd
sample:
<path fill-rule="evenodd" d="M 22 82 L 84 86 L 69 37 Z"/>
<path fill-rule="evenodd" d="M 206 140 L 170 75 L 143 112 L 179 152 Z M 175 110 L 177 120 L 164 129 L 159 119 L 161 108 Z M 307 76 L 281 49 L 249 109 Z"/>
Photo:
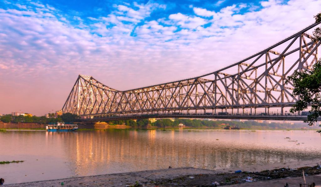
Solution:
<path fill-rule="evenodd" d="M 286 138 L 290 137 L 290 139 Z M 158 131 L 0 133 L 6 183 L 172 167 L 218 169 L 319 158 L 313 131 Z M 27 176 L 25 176 L 27 175 Z"/>

